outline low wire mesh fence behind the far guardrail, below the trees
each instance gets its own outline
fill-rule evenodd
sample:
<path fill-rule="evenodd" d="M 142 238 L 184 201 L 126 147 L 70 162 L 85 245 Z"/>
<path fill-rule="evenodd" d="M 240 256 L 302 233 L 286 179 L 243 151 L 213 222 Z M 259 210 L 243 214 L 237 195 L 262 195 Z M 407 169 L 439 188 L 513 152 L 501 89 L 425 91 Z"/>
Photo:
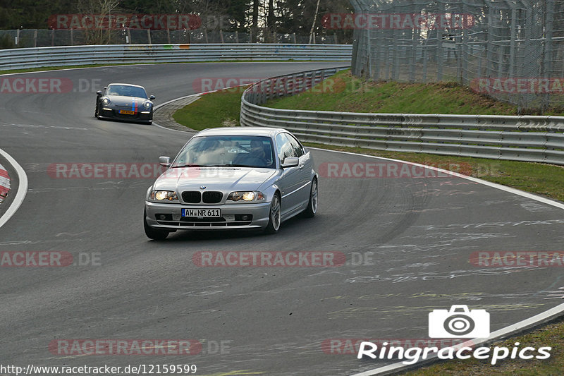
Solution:
<path fill-rule="evenodd" d="M 223 30 L 0 30 L 0 49 L 14 47 L 59 47 L 82 44 L 181 44 L 181 43 L 251 43 L 247 32 Z M 256 38 L 255 38 L 256 39 Z M 258 42 L 308 44 L 309 35 L 275 34 L 269 40 L 259 35 Z M 342 41 L 341 41 L 342 42 Z M 336 35 L 314 35 L 312 43 L 339 44 Z"/>

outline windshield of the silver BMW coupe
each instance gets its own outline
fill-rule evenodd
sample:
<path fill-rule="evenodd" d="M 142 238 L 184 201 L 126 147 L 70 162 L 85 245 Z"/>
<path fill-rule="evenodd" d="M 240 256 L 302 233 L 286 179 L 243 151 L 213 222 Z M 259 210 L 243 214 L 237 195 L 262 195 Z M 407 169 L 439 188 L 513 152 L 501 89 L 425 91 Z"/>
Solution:
<path fill-rule="evenodd" d="M 276 168 L 269 137 L 221 135 L 195 137 L 178 154 L 172 167 L 239 166 Z"/>

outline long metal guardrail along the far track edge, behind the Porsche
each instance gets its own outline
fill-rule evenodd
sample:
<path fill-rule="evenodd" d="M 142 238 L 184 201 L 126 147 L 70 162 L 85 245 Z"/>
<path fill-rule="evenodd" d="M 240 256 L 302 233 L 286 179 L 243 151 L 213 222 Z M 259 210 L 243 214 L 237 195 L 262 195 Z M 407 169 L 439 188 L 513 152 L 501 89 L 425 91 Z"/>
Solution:
<path fill-rule="evenodd" d="M 110 44 L 0 50 L 6 69 L 102 63 L 295 60 L 350 61 L 350 44 Z"/>

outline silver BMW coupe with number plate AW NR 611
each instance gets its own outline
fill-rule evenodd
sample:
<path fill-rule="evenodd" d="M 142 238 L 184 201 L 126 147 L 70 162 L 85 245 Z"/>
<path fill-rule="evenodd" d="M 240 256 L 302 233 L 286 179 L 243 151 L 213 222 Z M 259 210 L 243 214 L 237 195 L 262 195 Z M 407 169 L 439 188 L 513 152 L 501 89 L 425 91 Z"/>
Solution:
<path fill-rule="evenodd" d="M 147 190 L 144 225 L 160 240 L 179 229 L 263 229 L 317 211 L 311 153 L 279 128 L 211 128 L 197 133 Z"/>

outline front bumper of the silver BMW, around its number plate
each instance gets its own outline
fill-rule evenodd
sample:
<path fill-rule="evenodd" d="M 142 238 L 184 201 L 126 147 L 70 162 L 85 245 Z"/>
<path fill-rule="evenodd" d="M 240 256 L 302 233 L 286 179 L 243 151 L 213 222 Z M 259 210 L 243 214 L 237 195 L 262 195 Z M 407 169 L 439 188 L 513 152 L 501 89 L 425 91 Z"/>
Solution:
<path fill-rule="evenodd" d="M 219 209 L 221 218 L 181 217 L 182 209 Z M 233 230 L 264 229 L 270 202 L 259 204 L 183 205 L 145 201 L 145 221 L 154 229 Z M 247 219 L 245 219 L 247 216 Z"/>

